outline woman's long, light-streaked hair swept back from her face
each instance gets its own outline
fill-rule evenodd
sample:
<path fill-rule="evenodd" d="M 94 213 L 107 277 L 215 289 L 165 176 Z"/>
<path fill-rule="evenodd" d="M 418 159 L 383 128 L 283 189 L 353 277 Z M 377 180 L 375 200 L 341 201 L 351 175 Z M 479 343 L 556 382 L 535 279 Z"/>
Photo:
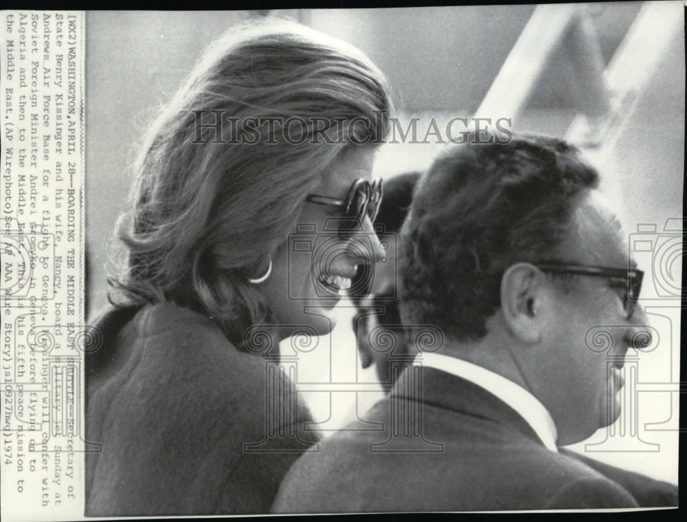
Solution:
<path fill-rule="evenodd" d="M 391 110 L 387 80 L 351 45 L 284 20 L 229 31 L 144 138 L 111 302 L 174 301 L 240 340 L 269 317 L 247 279 L 322 171 L 344 149 L 382 142 Z"/>

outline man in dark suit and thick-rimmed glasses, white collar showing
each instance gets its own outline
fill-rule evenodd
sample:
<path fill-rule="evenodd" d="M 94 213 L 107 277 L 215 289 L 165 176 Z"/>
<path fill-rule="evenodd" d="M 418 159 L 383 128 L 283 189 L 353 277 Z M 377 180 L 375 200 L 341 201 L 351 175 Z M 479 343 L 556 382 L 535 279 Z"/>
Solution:
<path fill-rule="evenodd" d="M 560 450 L 619 415 L 629 349 L 651 342 L 598 174 L 560 140 L 469 144 L 419 182 L 400 249 L 420 353 L 387 400 L 306 453 L 281 512 L 677 505 L 677 488 Z M 607 329 L 608 351 L 586 336 Z M 439 345 L 438 349 L 436 349 Z M 422 347 L 419 347 L 420 351 Z"/>

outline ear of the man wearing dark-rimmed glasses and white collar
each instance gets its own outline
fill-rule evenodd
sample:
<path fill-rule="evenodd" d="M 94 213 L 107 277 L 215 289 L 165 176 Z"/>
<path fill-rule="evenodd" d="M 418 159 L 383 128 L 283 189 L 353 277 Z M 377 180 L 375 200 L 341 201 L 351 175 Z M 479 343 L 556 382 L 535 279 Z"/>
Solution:
<path fill-rule="evenodd" d="M 528 344 L 541 340 L 542 273 L 531 263 L 510 265 L 501 279 L 501 309 L 513 335 Z"/>

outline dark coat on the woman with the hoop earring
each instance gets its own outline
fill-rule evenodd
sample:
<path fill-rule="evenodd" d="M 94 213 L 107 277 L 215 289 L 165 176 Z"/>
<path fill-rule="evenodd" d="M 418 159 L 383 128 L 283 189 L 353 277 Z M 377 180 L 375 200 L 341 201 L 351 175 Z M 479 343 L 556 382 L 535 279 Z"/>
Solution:
<path fill-rule="evenodd" d="M 313 442 L 292 383 L 176 305 L 113 309 L 96 326 L 86 433 L 101 450 L 87 454 L 86 514 L 269 512 Z"/>

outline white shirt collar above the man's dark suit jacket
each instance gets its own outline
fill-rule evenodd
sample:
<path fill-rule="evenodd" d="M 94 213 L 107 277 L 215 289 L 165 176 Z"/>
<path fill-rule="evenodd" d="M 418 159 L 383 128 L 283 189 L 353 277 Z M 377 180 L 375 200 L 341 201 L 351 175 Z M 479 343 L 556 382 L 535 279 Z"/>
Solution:
<path fill-rule="evenodd" d="M 423 352 L 416 356 L 413 364 L 453 373 L 496 395 L 527 421 L 546 448 L 558 453 L 558 448 L 556 448 L 558 432 L 551 414 L 532 393 L 519 384 L 466 360 L 441 354 Z"/>

